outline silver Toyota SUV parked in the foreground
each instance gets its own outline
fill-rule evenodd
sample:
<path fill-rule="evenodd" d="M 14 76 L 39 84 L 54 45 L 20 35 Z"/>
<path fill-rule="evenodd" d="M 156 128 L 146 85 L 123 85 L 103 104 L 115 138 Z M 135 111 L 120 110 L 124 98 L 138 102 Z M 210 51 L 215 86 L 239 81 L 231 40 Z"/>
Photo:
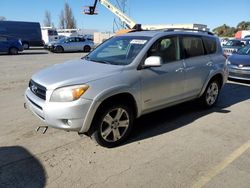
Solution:
<path fill-rule="evenodd" d="M 210 32 L 134 32 L 34 74 L 25 106 L 45 128 L 77 131 L 114 147 L 146 113 L 196 98 L 212 107 L 227 76 L 220 41 Z"/>

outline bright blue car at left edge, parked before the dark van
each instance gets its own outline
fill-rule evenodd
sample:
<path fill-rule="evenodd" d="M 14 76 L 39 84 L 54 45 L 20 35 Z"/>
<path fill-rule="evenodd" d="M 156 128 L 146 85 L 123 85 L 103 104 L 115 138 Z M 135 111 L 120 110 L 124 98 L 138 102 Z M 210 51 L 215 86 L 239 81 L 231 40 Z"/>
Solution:
<path fill-rule="evenodd" d="M 23 51 L 22 42 L 20 39 L 0 35 L 0 52 L 16 55 Z"/>

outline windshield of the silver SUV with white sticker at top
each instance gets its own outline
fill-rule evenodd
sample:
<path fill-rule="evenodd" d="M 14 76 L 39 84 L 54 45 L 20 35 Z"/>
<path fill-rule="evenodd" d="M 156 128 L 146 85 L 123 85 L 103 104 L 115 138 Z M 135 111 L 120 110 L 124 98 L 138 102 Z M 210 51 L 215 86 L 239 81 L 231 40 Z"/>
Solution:
<path fill-rule="evenodd" d="M 113 65 L 128 65 L 146 45 L 149 37 L 117 36 L 101 44 L 86 60 Z"/>

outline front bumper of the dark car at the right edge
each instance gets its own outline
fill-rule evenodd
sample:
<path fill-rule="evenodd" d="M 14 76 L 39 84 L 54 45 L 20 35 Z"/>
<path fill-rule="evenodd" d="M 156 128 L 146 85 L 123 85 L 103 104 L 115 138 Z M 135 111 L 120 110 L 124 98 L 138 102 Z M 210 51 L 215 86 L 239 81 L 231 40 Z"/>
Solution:
<path fill-rule="evenodd" d="M 239 68 L 235 65 L 230 65 L 228 67 L 229 78 L 239 79 L 239 80 L 250 80 L 250 67 Z"/>

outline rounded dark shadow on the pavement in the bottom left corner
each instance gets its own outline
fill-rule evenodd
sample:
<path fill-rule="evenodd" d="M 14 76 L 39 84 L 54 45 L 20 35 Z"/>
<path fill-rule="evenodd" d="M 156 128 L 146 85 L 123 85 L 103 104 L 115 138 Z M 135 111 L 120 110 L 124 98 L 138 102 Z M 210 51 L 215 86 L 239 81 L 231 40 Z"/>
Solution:
<path fill-rule="evenodd" d="M 0 187 L 43 188 L 46 173 L 42 164 L 21 146 L 0 147 Z"/>

